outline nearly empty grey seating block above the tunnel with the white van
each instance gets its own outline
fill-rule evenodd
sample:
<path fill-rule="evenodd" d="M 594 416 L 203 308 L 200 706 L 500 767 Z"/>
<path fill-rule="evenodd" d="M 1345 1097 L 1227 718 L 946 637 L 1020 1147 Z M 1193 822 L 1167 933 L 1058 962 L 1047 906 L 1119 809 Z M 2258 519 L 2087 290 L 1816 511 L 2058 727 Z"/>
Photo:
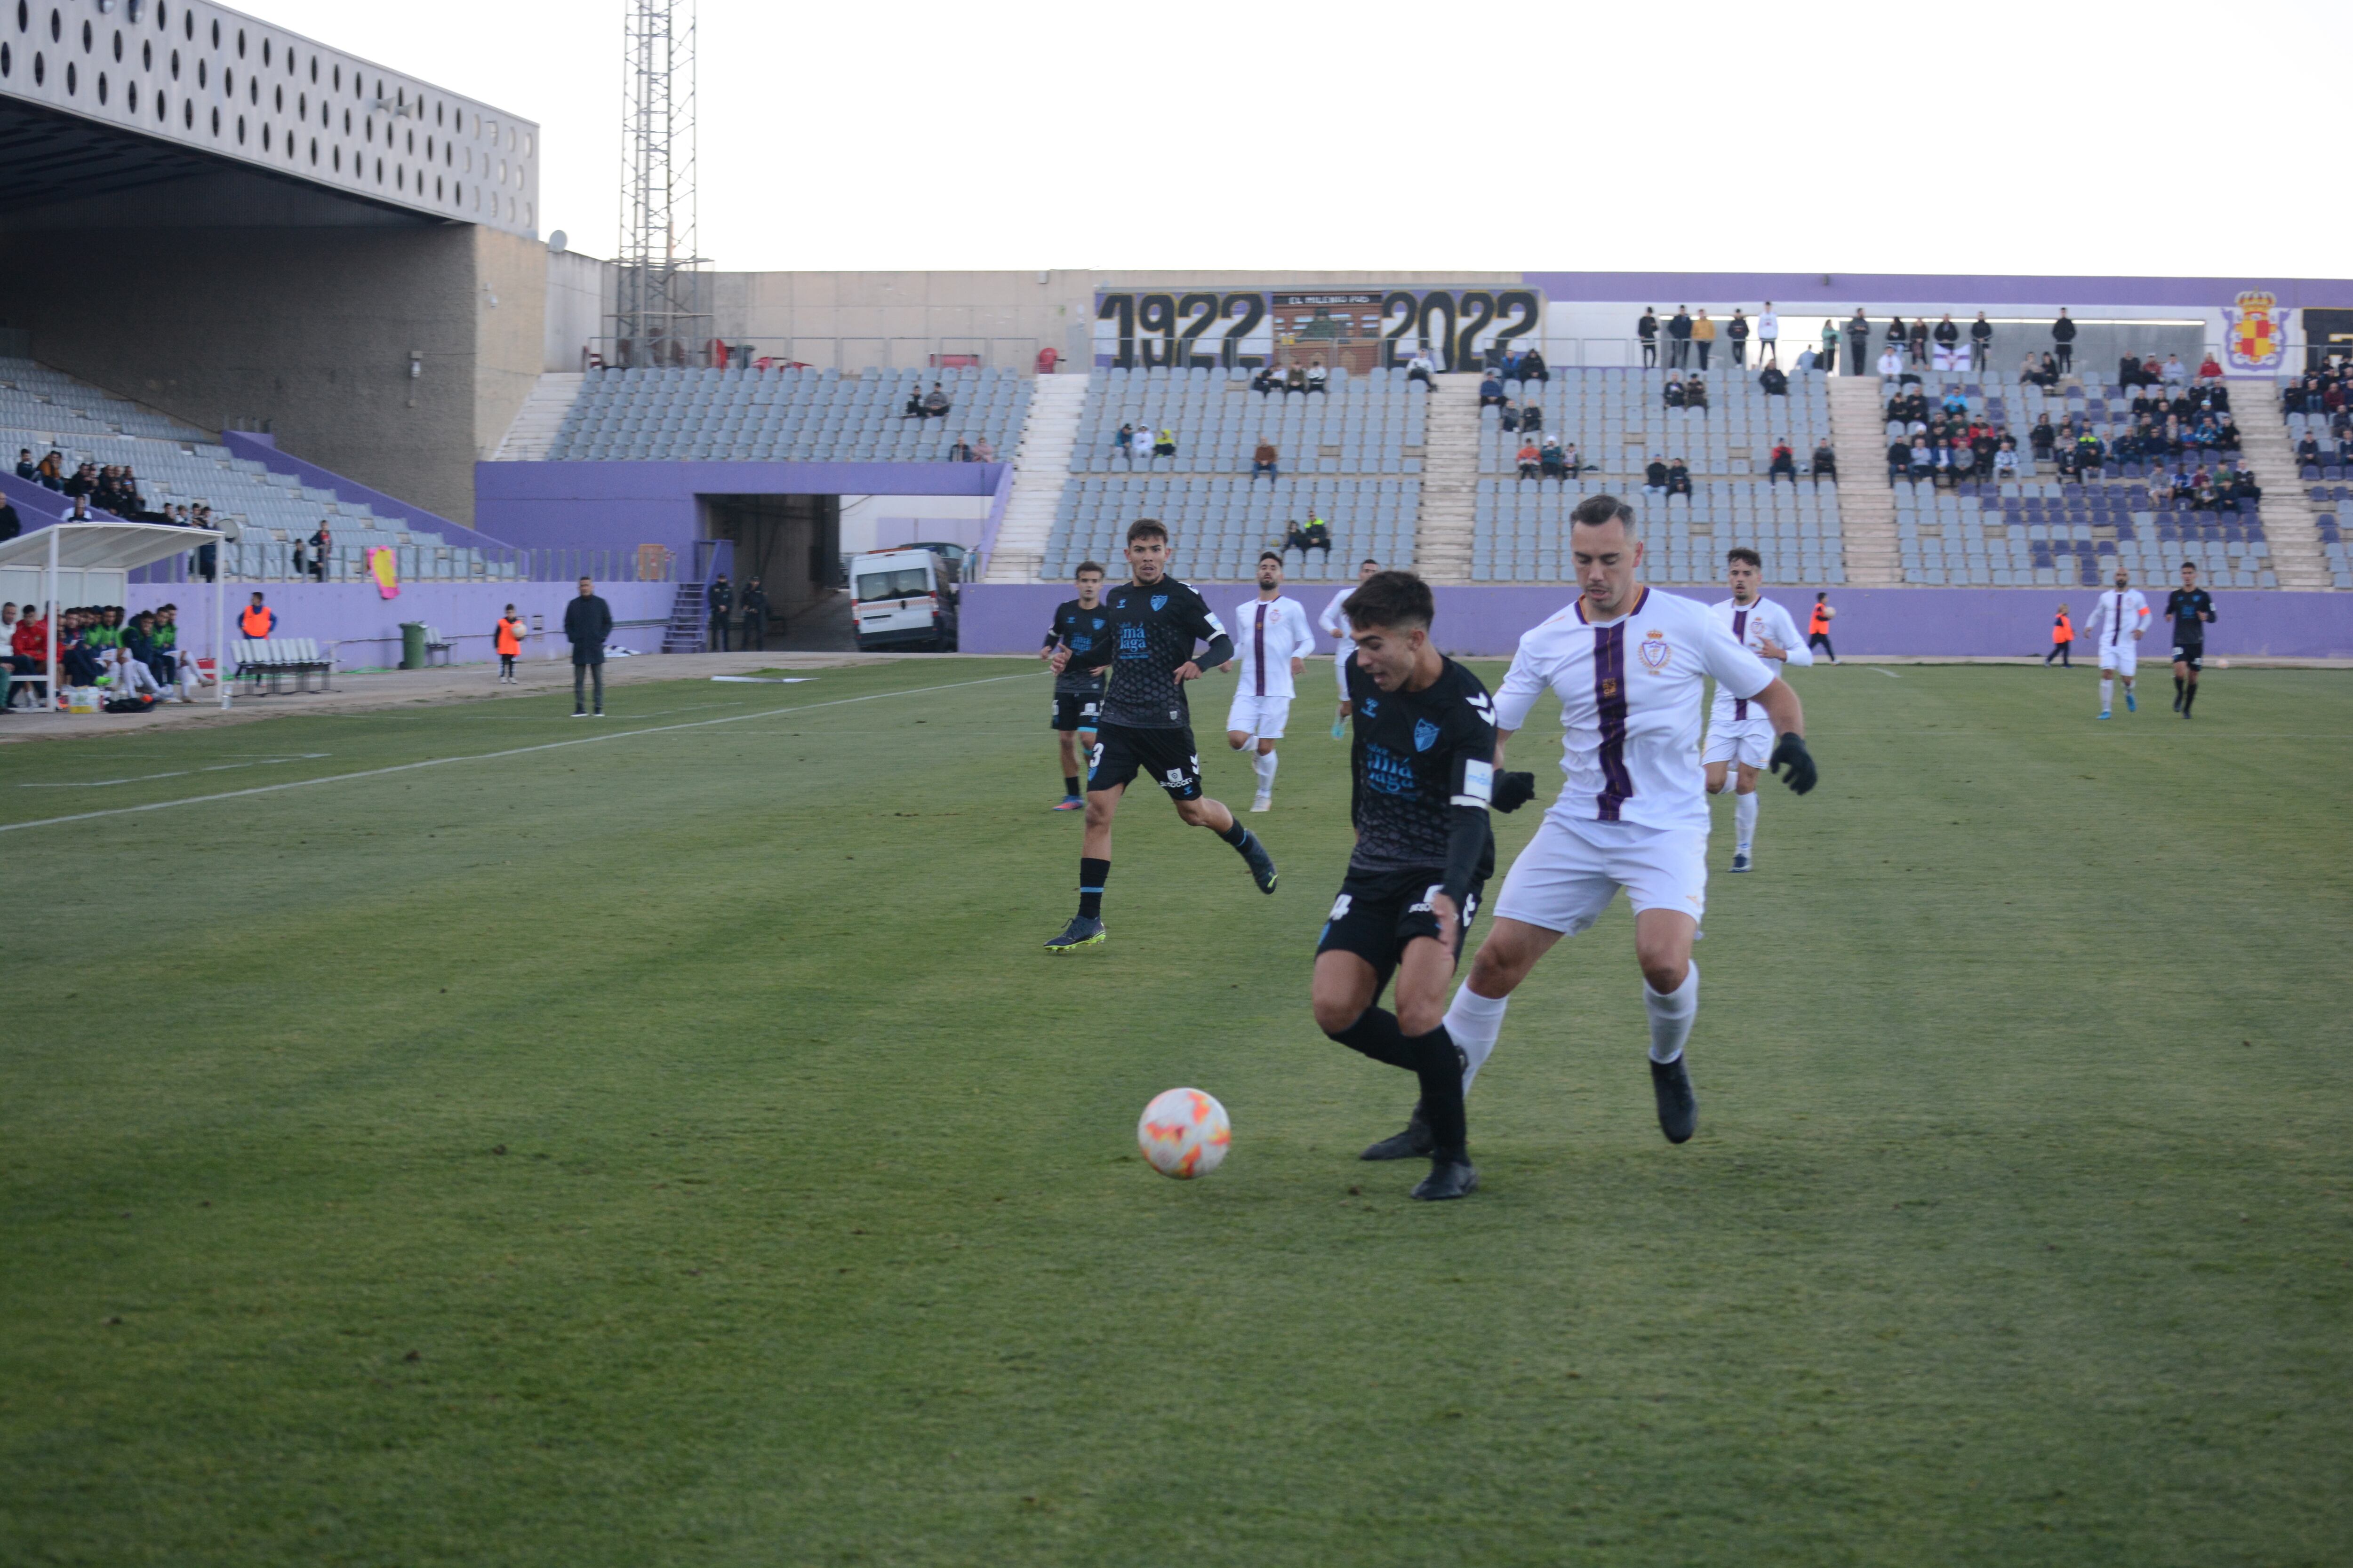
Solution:
<path fill-rule="evenodd" d="M 948 414 L 911 418 L 939 383 Z M 1031 383 L 998 369 L 598 369 L 565 411 L 548 461 L 948 463 L 962 440 L 1005 461 Z"/>

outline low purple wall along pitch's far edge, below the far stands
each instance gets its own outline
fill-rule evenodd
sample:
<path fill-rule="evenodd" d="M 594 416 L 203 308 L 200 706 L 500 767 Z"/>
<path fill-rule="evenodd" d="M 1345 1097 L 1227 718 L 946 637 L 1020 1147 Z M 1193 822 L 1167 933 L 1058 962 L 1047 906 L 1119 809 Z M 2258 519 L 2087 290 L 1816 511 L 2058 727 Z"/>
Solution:
<path fill-rule="evenodd" d="M 1252 592 L 1249 583 L 1195 583 L 1226 614 Z M 2162 583 L 2158 585 L 2162 588 Z M 1334 585 L 1294 585 L 1292 597 L 1320 614 Z M 1508 658 L 1520 635 L 1567 607 L 1569 588 L 1438 588 L 1438 644 L 1449 654 Z M 1722 590 L 1678 588 L 1715 602 Z M 2146 592 L 2146 585 L 2144 585 Z M 1812 590 L 1769 588 L 1798 625 Z M 965 590 L 962 649 L 967 654 L 1035 654 L 1068 583 L 981 583 Z M 2097 590 L 2052 588 L 1833 588 L 1838 621 L 1831 642 L 1847 654 L 1915 654 L 1929 658 L 2042 656 L 2059 602 L 2087 618 Z M 2162 604 L 2162 595 L 2158 597 Z M 2238 590 L 2214 595 L 2207 651 L 2219 656 L 2353 658 L 2353 592 Z M 2153 637 L 2160 632 L 2153 632 Z M 2144 644 L 2148 646 L 2148 644 Z"/>

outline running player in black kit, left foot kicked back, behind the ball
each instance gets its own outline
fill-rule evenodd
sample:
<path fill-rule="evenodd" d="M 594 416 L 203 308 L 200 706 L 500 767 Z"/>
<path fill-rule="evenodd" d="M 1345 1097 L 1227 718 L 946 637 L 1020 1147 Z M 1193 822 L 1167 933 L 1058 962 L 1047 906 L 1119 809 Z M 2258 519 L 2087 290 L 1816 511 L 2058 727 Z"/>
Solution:
<path fill-rule="evenodd" d="M 1127 524 L 1127 567 L 1104 599 L 1111 623 L 1094 646 L 1054 649 L 1054 675 L 1111 665 L 1104 717 L 1094 731 L 1087 769 L 1087 846 L 1078 860 L 1078 914 L 1049 940 L 1047 952 L 1073 952 L 1104 940 L 1104 884 L 1111 879 L 1111 816 L 1136 773 L 1167 790 L 1193 827 L 1207 827 L 1249 865 L 1261 893 L 1275 891 L 1275 858 L 1233 811 L 1200 792 L 1200 757 L 1193 750 L 1193 715 L 1184 684 L 1233 658 L 1233 639 L 1207 599 L 1167 576 L 1169 531 L 1151 517 Z M 1207 651 L 1193 654 L 1195 642 Z"/>

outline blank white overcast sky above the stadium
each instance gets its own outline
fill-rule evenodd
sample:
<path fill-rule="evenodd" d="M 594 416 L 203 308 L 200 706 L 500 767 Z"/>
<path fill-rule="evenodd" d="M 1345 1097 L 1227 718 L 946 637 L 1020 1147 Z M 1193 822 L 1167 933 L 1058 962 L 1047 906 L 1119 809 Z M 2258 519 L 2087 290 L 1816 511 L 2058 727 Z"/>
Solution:
<path fill-rule="evenodd" d="M 614 254 L 621 0 L 249 5 L 539 120 L 541 233 Z M 2353 273 L 2320 150 L 2348 0 L 699 24 L 701 249 L 729 270 Z"/>

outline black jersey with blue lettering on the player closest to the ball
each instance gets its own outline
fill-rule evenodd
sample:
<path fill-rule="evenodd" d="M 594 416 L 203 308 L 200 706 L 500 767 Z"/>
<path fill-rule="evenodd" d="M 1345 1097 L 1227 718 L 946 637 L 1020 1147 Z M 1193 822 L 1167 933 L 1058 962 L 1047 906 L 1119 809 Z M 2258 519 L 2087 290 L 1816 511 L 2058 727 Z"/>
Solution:
<path fill-rule="evenodd" d="M 1485 811 L 1494 795 L 1494 701 L 1487 686 L 1452 658 L 1421 691 L 1381 691 L 1353 656 L 1346 677 L 1355 715 L 1355 853 L 1348 870 L 1442 867 L 1454 809 Z M 1478 875 L 1485 879 L 1492 872 L 1489 827 Z"/>

